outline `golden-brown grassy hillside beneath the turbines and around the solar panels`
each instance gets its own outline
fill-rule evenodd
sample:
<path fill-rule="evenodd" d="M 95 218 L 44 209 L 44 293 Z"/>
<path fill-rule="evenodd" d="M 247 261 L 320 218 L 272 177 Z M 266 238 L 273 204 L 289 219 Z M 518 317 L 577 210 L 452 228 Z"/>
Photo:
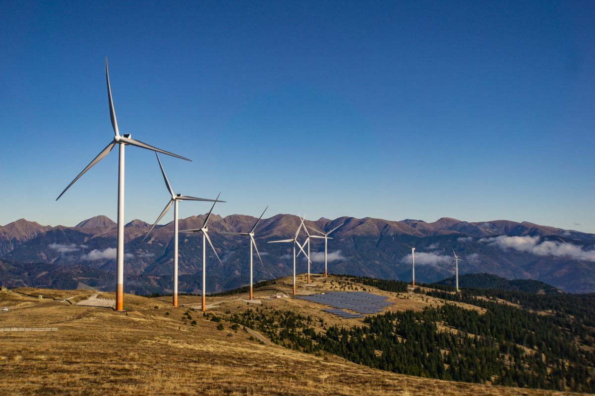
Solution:
<path fill-rule="evenodd" d="M 394 321 L 404 320 L 398 319 L 399 315 L 410 316 L 416 322 L 416 315 L 427 316 L 431 309 L 454 309 L 449 307 L 482 317 L 489 308 L 471 301 L 449 301 L 428 294 L 387 292 L 346 277 L 315 278 L 314 285 L 306 286 L 305 277 L 299 275 L 300 293 L 358 289 L 381 294 L 394 303 L 384 315 L 367 316 L 364 320 L 342 319 L 321 311 L 327 307 L 306 300 L 270 299 L 275 290 L 289 293 L 290 281 L 290 278 L 282 278 L 276 284 L 256 290 L 256 297 L 263 297 L 257 300 L 260 304 L 244 301 L 246 294 L 209 297 L 208 314 L 197 310 L 200 297 L 196 296 L 181 296 L 180 307 L 173 308 L 170 297 L 126 294 L 126 312 L 114 312 L 62 301 L 68 297 L 89 296 L 92 291 L 16 289 L 0 292 L 0 305 L 11 307 L 8 313 L 0 314 L 0 327 L 59 329 L 57 332 L 0 332 L 0 376 L 3 378 L 0 391 L 12 395 L 563 394 L 489 385 L 492 381 L 483 381 L 484 384 L 441 381 L 402 375 L 387 368 L 379 369 L 379 365 L 378 368 L 366 366 L 365 360 L 369 357 L 365 352 L 368 350 L 366 343 L 381 340 L 378 335 L 382 332 L 394 334 L 393 346 L 406 337 L 404 326 L 396 332 L 396 328 L 381 324 L 383 318 L 390 319 L 393 325 Z M 38 300 L 26 294 L 43 294 L 53 299 Z M 113 296 L 114 293 L 100 293 L 98 297 Z M 458 334 L 456 324 L 444 319 L 434 320 L 436 334 Z M 584 337 L 590 340 L 590 334 Z M 315 338 L 319 335 L 329 340 L 334 337 L 331 340 L 334 344 Z M 474 340 L 473 336 L 470 339 Z M 344 342 L 349 350 L 350 341 L 362 345 L 362 352 L 358 353 L 360 362 L 352 362 L 350 356 L 345 359 L 339 353 L 339 346 Z M 418 342 L 413 341 L 412 345 Z M 580 340 L 577 342 L 585 350 L 590 348 L 583 346 Z M 331 350 L 333 347 L 335 351 Z M 378 357 L 388 357 L 391 353 L 389 344 L 372 350 L 372 355 Z M 531 353 L 530 347 L 523 347 L 522 353 Z M 512 355 L 506 353 L 505 356 Z M 473 359 L 477 356 L 465 356 L 459 362 Z M 425 374 L 420 372 L 419 375 Z M 571 384 L 565 384 L 565 388 L 571 388 Z"/>

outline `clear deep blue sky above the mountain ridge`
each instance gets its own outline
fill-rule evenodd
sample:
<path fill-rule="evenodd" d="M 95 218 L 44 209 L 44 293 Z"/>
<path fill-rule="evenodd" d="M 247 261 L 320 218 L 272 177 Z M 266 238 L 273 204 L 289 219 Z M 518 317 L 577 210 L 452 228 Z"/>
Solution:
<path fill-rule="evenodd" d="M 215 213 L 595 232 L 595 2 L 0 2 L 0 224 L 115 220 L 121 133 Z M 126 149 L 125 220 L 168 202 Z M 209 205 L 183 202 L 180 217 Z M 162 220 L 167 223 L 173 213 Z"/>

